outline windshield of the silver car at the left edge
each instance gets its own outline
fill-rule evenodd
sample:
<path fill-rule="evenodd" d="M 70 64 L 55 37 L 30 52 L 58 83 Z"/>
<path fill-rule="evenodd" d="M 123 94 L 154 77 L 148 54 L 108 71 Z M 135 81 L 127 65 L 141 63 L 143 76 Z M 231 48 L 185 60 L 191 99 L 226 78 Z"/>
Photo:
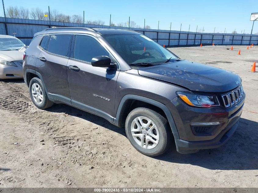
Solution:
<path fill-rule="evenodd" d="M 17 38 L 0 38 L 0 51 L 19 50 L 24 46 L 25 44 Z"/>

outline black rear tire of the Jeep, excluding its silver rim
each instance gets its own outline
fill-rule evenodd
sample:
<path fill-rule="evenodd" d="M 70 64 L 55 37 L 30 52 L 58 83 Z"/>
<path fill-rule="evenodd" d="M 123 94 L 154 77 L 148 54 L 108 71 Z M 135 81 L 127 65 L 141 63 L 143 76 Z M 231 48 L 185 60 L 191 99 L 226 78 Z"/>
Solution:
<path fill-rule="evenodd" d="M 32 96 L 32 89 L 31 89 L 31 87 L 32 87 L 32 85 L 34 83 L 37 83 L 40 86 L 41 90 L 42 90 L 43 100 L 42 100 L 41 104 L 38 104 L 37 102 L 35 102 L 35 100 L 34 100 L 34 98 Z M 30 84 L 29 84 L 29 92 L 30 92 L 30 97 L 31 97 L 32 102 L 39 109 L 47 109 L 47 108 L 51 107 L 54 104 L 52 101 L 49 100 L 49 98 L 48 98 L 48 96 L 46 94 L 46 91 L 45 91 L 45 89 L 43 87 L 42 81 L 38 77 L 34 77 L 34 78 L 31 79 Z"/>

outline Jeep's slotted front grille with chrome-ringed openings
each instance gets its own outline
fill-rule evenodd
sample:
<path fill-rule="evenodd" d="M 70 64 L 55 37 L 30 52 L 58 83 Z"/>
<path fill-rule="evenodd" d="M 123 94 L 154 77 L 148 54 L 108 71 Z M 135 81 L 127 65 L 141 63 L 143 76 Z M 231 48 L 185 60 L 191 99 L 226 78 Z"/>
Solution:
<path fill-rule="evenodd" d="M 244 94 L 243 87 L 240 85 L 235 90 L 221 95 L 224 106 L 228 108 L 238 104 L 244 98 Z"/>

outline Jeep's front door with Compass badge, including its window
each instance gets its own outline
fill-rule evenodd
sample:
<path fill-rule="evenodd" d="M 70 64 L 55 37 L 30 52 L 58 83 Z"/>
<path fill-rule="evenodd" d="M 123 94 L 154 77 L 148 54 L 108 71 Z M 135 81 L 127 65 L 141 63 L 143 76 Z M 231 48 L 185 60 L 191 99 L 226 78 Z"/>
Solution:
<path fill-rule="evenodd" d="M 75 35 L 71 58 L 67 64 L 67 74 L 71 102 L 83 109 L 91 109 L 95 114 L 111 118 L 114 116 L 116 80 L 119 70 L 107 67 L 93 67 L 91 60 L 110 52 L 100 41 L 90 35 Z M 73 70 L 71 67 L 78 68 Z M 111 118 L 112 119 L 112 118 Z"/>

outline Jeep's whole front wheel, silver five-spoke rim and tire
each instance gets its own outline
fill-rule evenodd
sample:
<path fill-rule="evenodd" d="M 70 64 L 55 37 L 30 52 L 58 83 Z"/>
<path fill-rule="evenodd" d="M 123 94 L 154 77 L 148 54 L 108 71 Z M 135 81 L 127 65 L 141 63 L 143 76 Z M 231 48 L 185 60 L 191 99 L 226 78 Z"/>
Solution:
<path fill-rule="evenodd" d="M 125 132 L 134 148 L 147 156 L 164 153 L 171 142 L 168 121 L 154 110 L 133 109 L 126 118 Z"/>

